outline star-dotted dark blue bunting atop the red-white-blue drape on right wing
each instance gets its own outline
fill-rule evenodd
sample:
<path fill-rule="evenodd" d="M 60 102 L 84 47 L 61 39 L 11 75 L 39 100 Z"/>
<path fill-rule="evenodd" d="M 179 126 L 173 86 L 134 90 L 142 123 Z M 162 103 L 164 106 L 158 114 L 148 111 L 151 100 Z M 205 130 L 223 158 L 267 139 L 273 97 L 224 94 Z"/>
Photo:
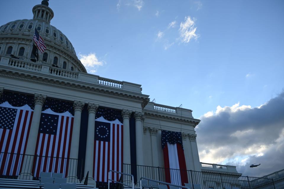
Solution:
<path fill-rule="evenodd" d="M 162 149 L 166 147 L 167 143 L 180 143 L 181 147 L 183 148 L 183 139 L 181 137 L 181 132 L 162 130 Z"/>

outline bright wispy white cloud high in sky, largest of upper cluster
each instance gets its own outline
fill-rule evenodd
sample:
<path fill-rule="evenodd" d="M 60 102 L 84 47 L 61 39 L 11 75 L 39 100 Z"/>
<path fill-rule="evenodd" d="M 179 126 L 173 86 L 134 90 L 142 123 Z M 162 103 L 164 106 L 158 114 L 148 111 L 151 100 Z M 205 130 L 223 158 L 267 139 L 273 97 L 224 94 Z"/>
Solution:
<path fill-rule="evenodd" d="M 185 22 L 180 23 L 180 38 L 183 43 L 190 42 L 191 39 L 197 39 L 199 37 L 198 34 L 196 34 L 195 27 L 195 20 L 191 19 L 190 16 L 185 17 Z"/>

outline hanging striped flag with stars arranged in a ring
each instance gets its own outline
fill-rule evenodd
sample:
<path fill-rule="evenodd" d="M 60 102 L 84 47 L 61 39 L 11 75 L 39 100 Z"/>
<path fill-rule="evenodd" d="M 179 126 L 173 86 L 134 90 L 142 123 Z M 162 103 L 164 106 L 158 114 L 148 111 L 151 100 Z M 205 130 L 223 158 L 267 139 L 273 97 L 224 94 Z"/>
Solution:
<path fill-rule="evenodd" d="M 109 170 L 122 172 L 123 125 L 116 119 L 108 121 L 101 116 L 95 121 L 94 180 L 108 182 Z M 111 179 L 118 181 L 120 174 L 112 172 Z"/>

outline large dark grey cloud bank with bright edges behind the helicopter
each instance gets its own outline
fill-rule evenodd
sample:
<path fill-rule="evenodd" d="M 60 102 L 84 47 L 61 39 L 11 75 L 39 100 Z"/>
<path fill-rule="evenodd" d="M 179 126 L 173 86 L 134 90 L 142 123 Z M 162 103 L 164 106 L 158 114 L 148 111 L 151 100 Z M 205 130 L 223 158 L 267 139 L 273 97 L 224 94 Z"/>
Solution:
<path fill-rule="evenodd" d="M 284 92 L 261 107 L 219 107 L 214 115 L 202 116 L 196 128 L 201 161 L 230 160 L 227 164 L 236 165 L 238 172 L 250 176 L 283 169 L 283 128 Z M 236 157 L 247 159 L 241 163 Z M 256 162 L 262 163 L 257 171 L 249 167 Z"/>

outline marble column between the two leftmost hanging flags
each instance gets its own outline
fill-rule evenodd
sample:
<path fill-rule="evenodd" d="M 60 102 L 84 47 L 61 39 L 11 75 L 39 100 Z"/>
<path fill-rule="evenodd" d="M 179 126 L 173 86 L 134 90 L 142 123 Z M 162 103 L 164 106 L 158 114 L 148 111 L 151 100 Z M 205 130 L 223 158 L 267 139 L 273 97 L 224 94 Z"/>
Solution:
<path fill-rule="evenodd" d="M 41 110 L 43 103 L 46 100 L 46 96 L 42 94 L 35 94 L 34 102 L 35 108 L 33 110 L 33 118 L 30 125 L 30 133 L 28 136 L 28 142 L 26 147 L 25 154 L 34 155 L 35 154 L 35 146 L 38 137 L 38 128 L 39 122 L 41 120 Z M 28 165 L 28 166 L 27 166 Z M 23 161 L 22 172 L 19 175 L 19 179 L 31 179 L 32 175 L 32 166 L 33 166 L 33 156 L 25 156 Z"/>

